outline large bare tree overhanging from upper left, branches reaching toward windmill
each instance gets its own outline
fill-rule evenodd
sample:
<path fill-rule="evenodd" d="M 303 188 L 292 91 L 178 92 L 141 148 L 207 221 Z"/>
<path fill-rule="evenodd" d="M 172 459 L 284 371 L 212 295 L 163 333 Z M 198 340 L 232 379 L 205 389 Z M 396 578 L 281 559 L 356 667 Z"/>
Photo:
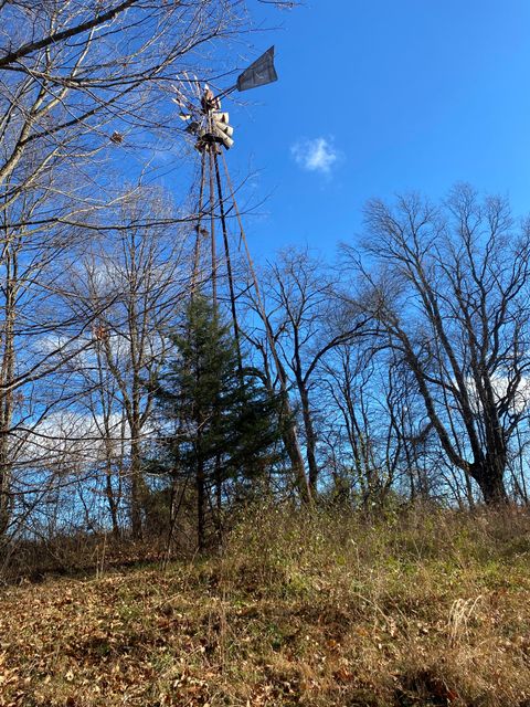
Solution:
<path fill-rule="evenodd" d="M 113 222 L 126 200 L 115 188 L 119 173 L 145 171 L 152 148 L 182 125 L 171 83 L 190 70 L 212 76 L 212 42 L 234 35 L 245 15 L 235 0 L 10 0 L 0 2 L 0 20 L 2 531 L 17 450 L 45 412 L 68 404 L 63 372 L 91 350 L 104 314 L 64 306 L 74 295 L 73 250 L 91 233 L 128 228 Z M 44 394 L 49 384 L 55 399 Z"/>

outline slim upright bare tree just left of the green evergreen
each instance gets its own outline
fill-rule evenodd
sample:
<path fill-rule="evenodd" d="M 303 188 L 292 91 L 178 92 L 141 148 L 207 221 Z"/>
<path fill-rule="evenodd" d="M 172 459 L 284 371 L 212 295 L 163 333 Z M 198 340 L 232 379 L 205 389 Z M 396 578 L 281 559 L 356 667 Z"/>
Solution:
<path fill-rule="evenodd" d="M 116 217 L 126 229 L 118 238 L 96 242 L 89 258 L 76 273 L 71 305 L 75 309 L 80 303 L 91 303 L 94 308 L 95 360 L 81 373 L 91 393 L 91 414 L 103 425 L 103 437 L 110 447 L 117 440 L 123 445 L 123 421 L 126 422 L 126 478 L 130 486 L 131 529 L 137 538 L 142 534 L 147 494 L 142 440 L 150 421 L 153 387 L 168 330 L 189 286 L 189 273 L 183 268 L 186 234 L 138 223 L 163 215 L 169 219 L 170 212 L 171 204 L 158 190 L 138 189 L 129 196 Z M 104 306 L 102 303 L 109 297 L 110 304 Z M 82 310 L 85 307 L 86 304 Z M 107 467 L 113 455 L 109 449 Z M 109 487 L 107 490 L 115 518 L 116 499 Z"/>

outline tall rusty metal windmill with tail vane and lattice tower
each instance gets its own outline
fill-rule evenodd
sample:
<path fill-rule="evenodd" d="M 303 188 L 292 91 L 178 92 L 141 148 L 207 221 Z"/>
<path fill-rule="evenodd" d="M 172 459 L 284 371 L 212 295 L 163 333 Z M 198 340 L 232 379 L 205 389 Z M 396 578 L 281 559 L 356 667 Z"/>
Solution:
<path fill-rule="evenodd" d="M 233 270 L 234 246 L 231 244 L 227 223 L 227 214 L 234 213 L 239 231 L 237 252 L 241 252 L 241 246 L 243 246 L 244 260 L 251 275 L 256 304 L 265 325 L 267 342 L 280 384 L 283 413 L 287 420 L 292 421 L 287 425 L 288 429 L 285 439 L 287 453 L 297 478 L 297 485 L 300 494 L 309 502 L 311 493 L 305 473 L 304 457 L 301 455 L 296 426 L 293 421 L 293 413 L 288 398 L 288 381 L 285 369 L 278 358 L 273 331 L 266 317 L 241 211 L 237 207 L 235 191 L 224 155 L 225 150 L 231 149 L 234 145 L 234 129 L 229 123 L 229 114 L 221 109 L 221 99 L 234 91 L 243 92 L 257 88 L 258 86 L 273 83 L 277 81 L 277 78 L 278 76 L 274 66 L 274 46 L 272 46 L 242 74 L 240 74 L 235 85 L 222 91 L 218 95 L 215 95 L 208 85 L 201 87 L 197 77 L 190 78 L 186 76 L 186 81 L 180 82 L 178 86 L 173 86 L 176 93 L 173 101 L 180 107 L 181 119 L 188 124 L 186 131 L 192 136 L 194 147 L 199 151 L 201 160 L 191 292 L 193 294 L 199 286 L 201 263 L 208 261 L 209 275 L 205 279 L 211 284 L 213 304 L 216 307 L 219 281 L 222 272 L 220 268 L 223 267 L 224 272 L 222 272 L 222 278 L 224 279 L 225 276 L 227 281 L 230 309 L 232 314 L 234 337 L 237 345 L 237 351 L 240 352 L 241 368 L 240 326 L 237 321 Z M 218 235 L 215 233 L 218 224 L 221 226 L 221 239 L 219 239 L 219 244 Z M 218 252 L 222 253 L 221 258 L 219 257 Z"/>

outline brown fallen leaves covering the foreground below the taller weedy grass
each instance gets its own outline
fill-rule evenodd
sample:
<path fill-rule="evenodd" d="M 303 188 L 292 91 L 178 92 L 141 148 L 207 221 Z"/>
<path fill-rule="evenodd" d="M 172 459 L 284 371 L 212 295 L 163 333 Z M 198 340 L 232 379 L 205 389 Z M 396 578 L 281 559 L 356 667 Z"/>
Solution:
<path fill-rule="evenodd" d="M 449 583 L 425 592 L 404 579 L 382 591 L 367 572 L 351 590 L 346 578 L 320 591 L 318 574 L 312 594 L 255 592 L 244 577 L 221 587 L 204 567 L 186 571 L 186 581 L 174 568 L 2 590 L 0 707 L 343 707 L 375 694 L 395 704 L 398 689 L 411 704 L 458 705 L 480 675 L 480 704 L 491 707 L 496 694 L 508 705 L 530 689 L 527 589 L 455 584 L 455 595 Z M 480 674 L 487 659 L 498 665 Z M 519 687 L 507 687 L 516 668 Z"/>

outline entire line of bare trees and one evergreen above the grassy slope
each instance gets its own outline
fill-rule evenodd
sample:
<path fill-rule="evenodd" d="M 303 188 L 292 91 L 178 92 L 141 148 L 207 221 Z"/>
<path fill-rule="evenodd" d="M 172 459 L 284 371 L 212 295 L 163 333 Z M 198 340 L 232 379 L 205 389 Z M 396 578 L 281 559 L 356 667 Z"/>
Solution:
<path fill-rule="evenodd" d="M 236 264 L 236 339 L 208 270 L 191 286 L 193 193 L 157 186 L 152 155 L 182 143 L 171 83 L 226 68 L 211 48 L 248 29 L 244 4 L 0 14 L 8 547 L 76 531 L 204 547 L 261 498 L 528 502 L 530 239 L 506 200 L 373 200 L 338 264 L 296 249 L 262 264 L 259 300 Z"/>

